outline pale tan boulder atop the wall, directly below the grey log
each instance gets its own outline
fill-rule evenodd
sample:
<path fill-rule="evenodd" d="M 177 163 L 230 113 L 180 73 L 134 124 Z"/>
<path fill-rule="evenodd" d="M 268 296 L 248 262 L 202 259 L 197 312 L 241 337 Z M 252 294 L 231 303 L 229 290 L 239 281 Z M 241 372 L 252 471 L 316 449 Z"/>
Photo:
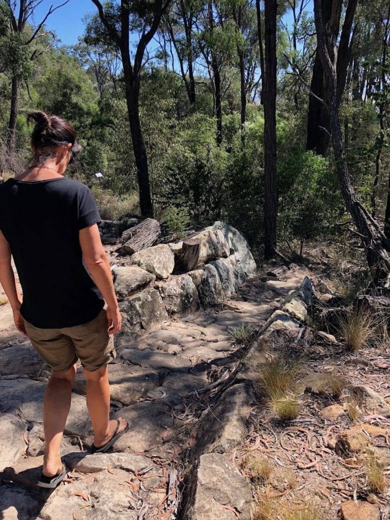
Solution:
<path fill-rule="evenodd" d="M 159 244 L 137 251 L 131 256 L 130 262 L 151 272 L 159 280 L 163 280 L 170 276 L 175 267 L 175 255 L 170 246 Z"/>

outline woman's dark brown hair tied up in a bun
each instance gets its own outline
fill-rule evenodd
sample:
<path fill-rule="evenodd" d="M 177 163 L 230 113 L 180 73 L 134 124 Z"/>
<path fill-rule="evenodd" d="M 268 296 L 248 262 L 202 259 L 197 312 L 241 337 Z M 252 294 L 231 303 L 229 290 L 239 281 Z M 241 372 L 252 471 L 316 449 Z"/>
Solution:
<path fill-rule="evenodd" d="M 27 122 L 35 121 L 31 142 L 36 148 L 46 148 L 72 143 L 74 153 L 79 153 L 81 145 L 76 140 L 75 129 L 58 115 L 50 115 L 34 110 L 27 116 Z"/>

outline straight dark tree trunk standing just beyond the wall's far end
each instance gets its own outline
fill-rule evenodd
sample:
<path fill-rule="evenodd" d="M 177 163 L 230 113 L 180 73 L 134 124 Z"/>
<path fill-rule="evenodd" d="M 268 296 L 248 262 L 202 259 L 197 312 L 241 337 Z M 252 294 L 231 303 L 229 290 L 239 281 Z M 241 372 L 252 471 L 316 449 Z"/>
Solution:
<path fill-rule="evenodd" d="M 264 82 L 264 256 L 276 250 L 276 10 L 277 0 L 265 0 Z"/>

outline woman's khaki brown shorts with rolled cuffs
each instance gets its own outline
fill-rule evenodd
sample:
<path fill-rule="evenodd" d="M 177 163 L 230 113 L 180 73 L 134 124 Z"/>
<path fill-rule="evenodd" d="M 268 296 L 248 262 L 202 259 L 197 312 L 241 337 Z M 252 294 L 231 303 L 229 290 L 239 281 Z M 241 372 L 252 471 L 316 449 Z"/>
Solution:
<path fill-rule="evenodd" d="M 94 372 L 116 356 L 113 335 L 107 332 L 106 311 L 88 323 L 63 329 L 40 329 L 24 320 L 25 330 L 36 352 L 55 372 L 65 372 L 80 359 Z"/>

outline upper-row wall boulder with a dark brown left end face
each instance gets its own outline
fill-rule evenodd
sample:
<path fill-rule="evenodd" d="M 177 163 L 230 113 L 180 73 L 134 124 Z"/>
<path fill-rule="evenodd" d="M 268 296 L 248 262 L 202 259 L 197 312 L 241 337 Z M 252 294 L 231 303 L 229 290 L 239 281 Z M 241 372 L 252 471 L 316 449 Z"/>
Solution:
<path fill-rule="evenodd" d="M 229 256 L 230 248 L 222 232 L 212 229 L 199 231 L 183 240 L 179 265 L 184 271 L 191 271 L 215 258 Z"/>

